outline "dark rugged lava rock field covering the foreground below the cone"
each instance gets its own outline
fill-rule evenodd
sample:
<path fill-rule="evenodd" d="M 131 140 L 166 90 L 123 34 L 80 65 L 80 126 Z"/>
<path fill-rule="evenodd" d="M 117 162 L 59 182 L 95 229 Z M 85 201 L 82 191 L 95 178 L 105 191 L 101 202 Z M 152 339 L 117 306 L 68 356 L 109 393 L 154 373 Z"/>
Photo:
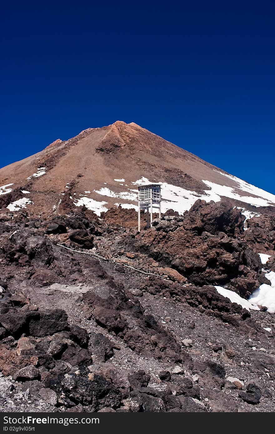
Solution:
<path fill-rule="evenodd" d="M 20 411 L 273 411 L 273 316 L 213 286 L 248 296 L 266 283 L 258 251 L 272 253 L 272 219 L 261 223 L 268 236 L 257 250 L 260 233 L 246 235 L 225 204 L 198 202 L 137 233 L 134 210 L 99 220 L 70 203 L 69 195 L 67 214 L 46 221 L 0 216 L 0 408 L 13 400 Z M 91 246 L 106 260 L 83 254 Z"/>

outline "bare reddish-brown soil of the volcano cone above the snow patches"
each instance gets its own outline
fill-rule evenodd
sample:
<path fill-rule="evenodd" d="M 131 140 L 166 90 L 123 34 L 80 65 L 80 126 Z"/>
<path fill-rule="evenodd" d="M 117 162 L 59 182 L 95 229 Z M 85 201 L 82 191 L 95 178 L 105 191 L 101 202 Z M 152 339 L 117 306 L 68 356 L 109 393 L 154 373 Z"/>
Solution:
<path fill-rule="evenodd" d="M 47 168 L 46 174 L 27 180 L 40 167 Z M 132 181 L 142 176 L 198 193 L 208 189 L 202 179 L 229 187 L 237 186 L 235 181 L 216 170 L 219 169 L 212 164 L 133 122 L 117 121 L 102 128 L 88 128 L 68 141 L 58 139 L 43 151 L 0 169 L 0 185 L 14 184 L 12 193 L 0 197 L 0 206 L 5 207 L 23 197 L 20 190 L 27 190 L 30 191 L 28 198 L 34 203 L 28 206 L 29 212 L 50 215 L 53 206 L 63 200 L 62 194 L 68 191 L 66 185 L 70 183 L 72 196 L 76 194 L 79 197 L 84 191 L 90 191 L 90 198 L 107 201 L 106 206 L 113 207 L 114 203 L 125 200 L 106 198 L 94 190 L 105 186 L 119 193 L 121 187 L 114 179 L 124 178 L 125 185 L 131 186 Z M 229 201 L 243 205 L 239 201 Z M 244 207 L 255 210 L 248 204 Z"/>

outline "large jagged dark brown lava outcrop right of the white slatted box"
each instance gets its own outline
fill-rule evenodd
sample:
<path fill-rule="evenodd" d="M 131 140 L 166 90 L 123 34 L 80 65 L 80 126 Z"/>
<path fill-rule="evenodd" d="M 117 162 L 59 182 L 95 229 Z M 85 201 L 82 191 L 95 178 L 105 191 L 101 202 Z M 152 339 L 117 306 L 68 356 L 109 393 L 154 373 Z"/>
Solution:
<path fill-rule="evenodd" d="M 128 241 L 129 248 L 175 269 L 195 286 L 227 285 L 248 298 L 260 286 L 262 264 L 257 253 L 236 238 L 242 234 L 242 217 L 223 203 L 197 201 L 183 218 L 157 220 L 156 230 L 141 232 Z"/>

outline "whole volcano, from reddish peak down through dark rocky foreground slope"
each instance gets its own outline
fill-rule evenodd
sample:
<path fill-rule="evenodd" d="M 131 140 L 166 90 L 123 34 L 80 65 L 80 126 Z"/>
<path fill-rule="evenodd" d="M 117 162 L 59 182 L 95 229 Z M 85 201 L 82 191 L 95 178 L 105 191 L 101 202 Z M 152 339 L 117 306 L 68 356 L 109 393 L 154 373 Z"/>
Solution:
<path fill-rule="evenodd" d="M 0 186 L 0 411 L 275 411 L 274 195 L 120 121 Z"/>

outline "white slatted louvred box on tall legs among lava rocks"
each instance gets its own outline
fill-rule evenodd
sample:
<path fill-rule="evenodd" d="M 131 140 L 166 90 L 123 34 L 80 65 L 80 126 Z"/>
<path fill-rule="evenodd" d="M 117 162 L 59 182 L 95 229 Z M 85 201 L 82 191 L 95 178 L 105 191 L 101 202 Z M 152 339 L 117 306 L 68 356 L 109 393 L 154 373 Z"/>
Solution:
<path fill-rule="evenodd" d="M 159 209 L 161 217 L 161 195 L 160 184 L 139 185 L 139 232 L 140 232 L 140 210 L 147 210 L 147 227 L 152 227 L 153 208 Z M 150 208 L 150 214 L 149 214 Z M 149 217 L 150 215 L 150 217 Z M 150 219 L 150 223 L 149 223 Z"/>

